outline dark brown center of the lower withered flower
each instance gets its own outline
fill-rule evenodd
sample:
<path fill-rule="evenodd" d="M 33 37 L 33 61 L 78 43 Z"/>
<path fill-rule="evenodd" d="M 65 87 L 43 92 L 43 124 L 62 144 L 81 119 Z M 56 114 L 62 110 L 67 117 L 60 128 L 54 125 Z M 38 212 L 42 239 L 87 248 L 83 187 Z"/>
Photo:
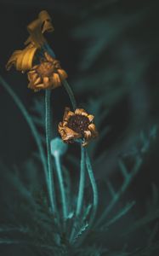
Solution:
<path fill-rule="evenodd" d="M 80 114 L 73 115 L 68 120 L 68 127 L 83 135 L 84 131 L 88 130 L 89 119 Z"/>

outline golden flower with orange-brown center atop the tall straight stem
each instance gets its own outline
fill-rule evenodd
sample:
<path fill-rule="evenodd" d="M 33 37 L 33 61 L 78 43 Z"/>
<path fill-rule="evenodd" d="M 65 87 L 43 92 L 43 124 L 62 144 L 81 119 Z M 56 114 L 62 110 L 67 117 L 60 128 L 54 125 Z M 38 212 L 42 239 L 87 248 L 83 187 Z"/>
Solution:
<path fill-rule="evenodd" d="M 31 68 L 28 72 L 28 85 L 34 91 L 41 89 L 54 89 L 61 85 L 62 80 L 67 78 L 67 74 L 60 67 L 60 61 L 57 61 L 47 52 L 44 53 L 44 59 L 39 65 Z"/>

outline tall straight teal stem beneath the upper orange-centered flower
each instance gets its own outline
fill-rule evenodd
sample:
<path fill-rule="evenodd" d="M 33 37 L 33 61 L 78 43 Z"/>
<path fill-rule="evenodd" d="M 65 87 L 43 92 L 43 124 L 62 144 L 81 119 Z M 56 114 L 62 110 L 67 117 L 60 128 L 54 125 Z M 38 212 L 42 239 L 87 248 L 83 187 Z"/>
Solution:
<path fill-rule="evenodd" d="M 46 127 L 46 143 L 47 143 L 47 155 L 48 155 L 48 190 L 49 190 L 49 200 L 50 200 L 51 210 L 56 215 L 57 207 L 55 202 L 53 163 L 51 159 L 51 148 L 50 148 L 50 142 L 51 142 L 50 97 L 51 97 L 51 90 L 45 90 L 45 127 Z"/>

